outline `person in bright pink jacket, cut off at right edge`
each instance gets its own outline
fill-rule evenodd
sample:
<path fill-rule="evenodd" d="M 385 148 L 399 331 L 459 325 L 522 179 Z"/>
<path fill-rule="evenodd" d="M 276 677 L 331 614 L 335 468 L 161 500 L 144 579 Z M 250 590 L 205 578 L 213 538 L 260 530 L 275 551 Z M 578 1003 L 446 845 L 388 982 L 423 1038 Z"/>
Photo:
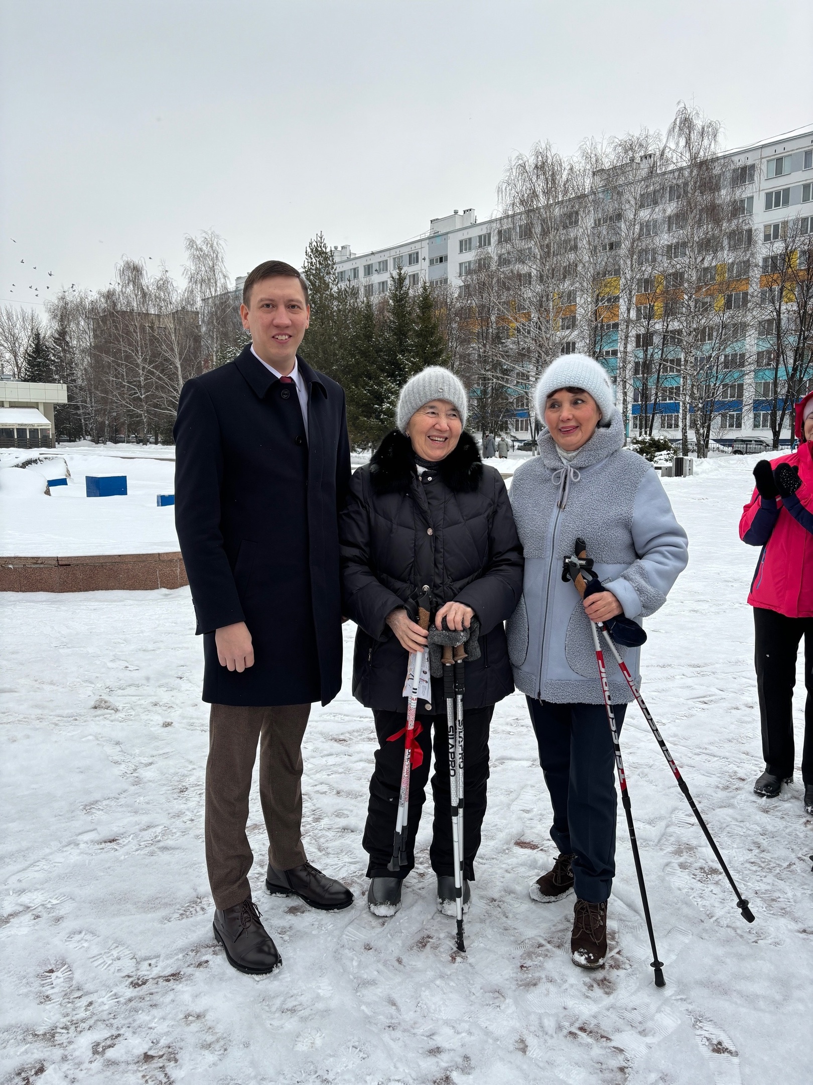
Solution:
<path fill-rule="evenodd" d="M 765 771 L 753 786 L 776 797 L 793 779 L 792 697 L 804 637 L 804 809 L 813 814 L 813 392 L 796 405 L 795 452 L 760 460 L 739 537 L 762 551 L 751 580 L 754 664 Z"/>

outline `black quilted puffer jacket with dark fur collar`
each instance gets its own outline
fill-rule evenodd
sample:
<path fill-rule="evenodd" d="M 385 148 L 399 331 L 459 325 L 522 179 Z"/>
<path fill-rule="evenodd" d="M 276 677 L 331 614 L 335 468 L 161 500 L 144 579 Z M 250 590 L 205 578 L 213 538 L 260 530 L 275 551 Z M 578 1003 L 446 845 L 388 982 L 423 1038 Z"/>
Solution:
<path fill-rule="evenodd" d="M 359 626 L 353 694 L 370 709 L 406 710 L 406 651 L 386 624 L 428 585 L 435 611 L 466 603 L 480 621 L 482 654 L 466 665 L 464 706 L 495 704 L 514 690 L 503 622 L 522 590 L 522 550 L 500 473 L 474 438 L 418 476 L 409 437 L 395 430 L 350 482 L 339 519 L 343 613 Z M 433 707 L 444 707 L 433 682 Z"/>

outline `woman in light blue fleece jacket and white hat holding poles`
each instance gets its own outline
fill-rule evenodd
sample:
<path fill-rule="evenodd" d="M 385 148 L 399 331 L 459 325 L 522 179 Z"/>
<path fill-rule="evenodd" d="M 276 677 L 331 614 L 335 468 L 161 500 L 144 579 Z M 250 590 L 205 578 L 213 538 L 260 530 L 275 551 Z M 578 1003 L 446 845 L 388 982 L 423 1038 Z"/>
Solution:
<path fill-rule="evenodd" d="M 549 902 L 576 889 L 571 956 L 604 963 L 607 899 L 615 875 L 616 787 L 590 621 L 623 613 L 640 622 L 666 602 L 688 560 L 651 464 L 623 448 L 621 417 L 606 371 L 584 355 L 565 355 L 535 391 L 544 422 L 539 457 L 514 474 L 511 503 L 525 550 L 522 597 L 508 621 L 514 681 L 528 699 L 540 764 L 551 793 L 551 837 L 559 855 L 531 885 Z M 577 538 L 588 545 L 605 590 L 582 602 L 563 582 L 563 559 Z M 640 649 L 620 649 L 637 682 Z M 620 730 L 633 699 L 615 663 L 609 689 Z"/>

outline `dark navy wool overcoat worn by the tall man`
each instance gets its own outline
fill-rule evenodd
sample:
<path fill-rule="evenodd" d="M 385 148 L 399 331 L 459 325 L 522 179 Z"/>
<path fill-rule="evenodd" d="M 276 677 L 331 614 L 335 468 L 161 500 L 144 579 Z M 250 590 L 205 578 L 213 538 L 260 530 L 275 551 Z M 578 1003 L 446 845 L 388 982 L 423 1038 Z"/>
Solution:
<path fill-rule="evenodd" d="M 350 481 L 345 394 L 298 358 L 294 384 L 250 347 L 181 391 L 176 526 L 204 637 L 204 701 L 327 704 L 341 686 L 338 508 Z M 255 663 L 218 662 L 215 630 L 245 622 Z"/>

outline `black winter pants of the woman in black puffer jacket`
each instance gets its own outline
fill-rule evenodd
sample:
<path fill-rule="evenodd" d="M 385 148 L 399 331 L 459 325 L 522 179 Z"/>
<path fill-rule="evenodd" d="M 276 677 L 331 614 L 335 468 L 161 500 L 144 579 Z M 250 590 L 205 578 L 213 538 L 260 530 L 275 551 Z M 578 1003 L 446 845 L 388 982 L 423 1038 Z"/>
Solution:
<path fill-rule="evenodd" d="M 480 828 L 486 816 L 486 784 L 489 778 L 489 726 L 494 706 L 469 709 L 463 717 L 463 877 L 474 881 L 474 860 L 480 846 Z M 408 864 L 399 872 L 392 872 L 387 864 L 392 858 L 392 838 L 396 832 L 398 797 L 401 790 L 403 768 L 403 742 L 400 735 L 406 726 L 405 712 L 373 711 L 378 749 L 375 752 L 375 771 L 370 780 L 370 805 L 364 826 L 362 846 L 370 855 L 367 878 L 405 878 L 415 866 L 415 835 L 417 834 L 421 810 L 426 799 L 426 783 L 429 778 L 431 756 L 431 729 L 435 729 L 435 775 L 431 778 L 431 793 L 435 800 L 429 861 L 437 875 L 453 875 L 452 808 L 449 784 L 449 729 L 446 713 L 442 716 L 416 715 L 416 738 L 413 743 L 421 746 L 423 762 L 415 767 L 413 750 L 410 774 L 410 801 L 406 835 Z"/>

